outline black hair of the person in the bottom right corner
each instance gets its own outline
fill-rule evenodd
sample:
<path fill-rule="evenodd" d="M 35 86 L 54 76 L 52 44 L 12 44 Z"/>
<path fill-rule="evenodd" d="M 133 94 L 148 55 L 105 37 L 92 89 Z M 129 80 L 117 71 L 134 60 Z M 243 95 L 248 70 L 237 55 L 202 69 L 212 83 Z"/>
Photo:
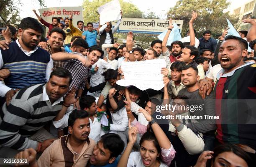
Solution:
<path fill-rule="evenodd" d="M 221 144 L 213 150 L 213 158 L 212 163 L 214 163 L 215 158 L 218 157 L 219 154 L 223 152 L 233 152 L 238 157 L 242 158 L 247 164 L 248 167 L 251 167 L 252 159 L 251 157 L 240 147 L 236 146 L 235 144 Z"/>

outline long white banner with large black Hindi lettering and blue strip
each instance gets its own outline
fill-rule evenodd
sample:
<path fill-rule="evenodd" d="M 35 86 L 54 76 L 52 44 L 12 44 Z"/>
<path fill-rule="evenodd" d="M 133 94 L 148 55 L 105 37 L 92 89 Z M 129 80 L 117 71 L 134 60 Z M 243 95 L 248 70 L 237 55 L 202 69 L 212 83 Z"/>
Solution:
<path fill-rule="evenodd" d="M 178 25 L 179 32 L 182 31 L 183 20 L 172 20 L 172 23 Z M 146 33 L 161 34 L 168 29 L 169 20 L 161 19 L 144 19 L 144 18 L 122 18 L 122 22 L 117 32 L 127 33 Z M 113 23 L 115 26 L 115 23 Z"/>

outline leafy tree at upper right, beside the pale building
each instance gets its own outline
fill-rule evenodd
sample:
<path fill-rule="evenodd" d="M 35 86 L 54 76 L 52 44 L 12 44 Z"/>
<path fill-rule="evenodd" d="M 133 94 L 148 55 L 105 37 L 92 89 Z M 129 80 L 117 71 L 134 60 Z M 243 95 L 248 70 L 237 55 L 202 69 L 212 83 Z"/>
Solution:
<path fill-rule="evenodd" d="M 198 18 L 194 23 L 197 30 L 197 37 L 200 37 L 204 30 L 211 30 L 215 37 L 221 34 L 228 25 L 226 18 L 234 25 L 238 22 L 238 17 L 224 12 L 230 3 L 226 0 L 178 0 L 176 5 L 167 13 L 168 18 L 174 20 L 184 20 L 182 35 L 186 35 L 188 23 L 192 11 L 198 13 Z"/>

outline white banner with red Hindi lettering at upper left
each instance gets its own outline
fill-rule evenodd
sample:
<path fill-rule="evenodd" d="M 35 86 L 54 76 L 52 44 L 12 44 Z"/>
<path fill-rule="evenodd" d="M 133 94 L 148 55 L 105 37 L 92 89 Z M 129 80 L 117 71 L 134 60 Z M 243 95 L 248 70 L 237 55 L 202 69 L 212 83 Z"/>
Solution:
<path fill-rule="evenodd" d="M 51 23 L 51 18 L 68 18 L 69 15 L 72 13 L 73 10 L 73 25 L 77 27 L 77 21 L 84 20 L 83 13 L 82 13 L 82 6 L 78 7 L 53 7 L 53 8 L 43 8 L 38 9 L 41 15 L 46 22 Z"/>

